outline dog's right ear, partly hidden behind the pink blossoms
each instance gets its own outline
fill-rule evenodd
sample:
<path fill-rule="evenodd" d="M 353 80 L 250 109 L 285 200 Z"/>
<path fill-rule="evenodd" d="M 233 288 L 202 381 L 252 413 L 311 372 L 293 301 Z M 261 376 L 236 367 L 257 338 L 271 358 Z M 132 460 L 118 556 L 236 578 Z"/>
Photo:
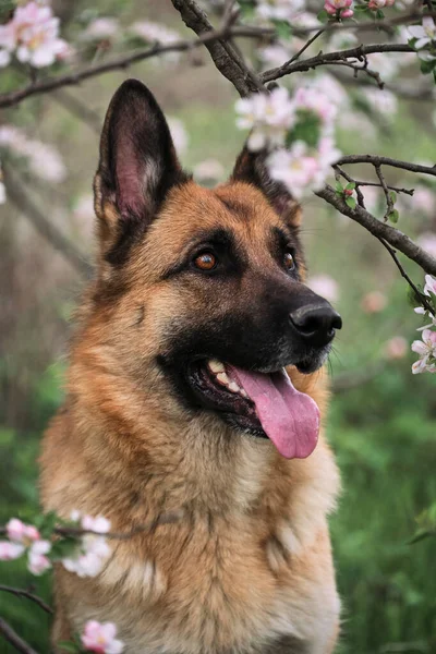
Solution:
<path fill-rule="evenodd" d="M 300 205 L 282 182 L 276 182 L 270 178 L 266 158 L 266 150 L 253 153 L 245 145 L 237 159 L 230 179 L 257 186 L 275 211 L 289 225 L 298 227 L 301 221 Z"/>

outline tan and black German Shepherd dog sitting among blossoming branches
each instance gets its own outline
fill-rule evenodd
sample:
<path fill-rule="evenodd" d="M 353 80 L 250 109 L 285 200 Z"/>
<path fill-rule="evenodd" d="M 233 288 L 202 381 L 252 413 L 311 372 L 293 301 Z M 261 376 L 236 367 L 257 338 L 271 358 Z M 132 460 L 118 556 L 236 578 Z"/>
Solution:
<path fill-rule="evenodd" d="M 96 275 L 41 498 L 134 535 L 95 578 L 57 569 L 55 649 L 96 619 L 128 654 L 330 654 L 339 480 L 318 432 L 341 319 L 304 284 L 300 207 L 246 148 L 227 183 L 194 183 L 135 80 L 94 187 Z"/>

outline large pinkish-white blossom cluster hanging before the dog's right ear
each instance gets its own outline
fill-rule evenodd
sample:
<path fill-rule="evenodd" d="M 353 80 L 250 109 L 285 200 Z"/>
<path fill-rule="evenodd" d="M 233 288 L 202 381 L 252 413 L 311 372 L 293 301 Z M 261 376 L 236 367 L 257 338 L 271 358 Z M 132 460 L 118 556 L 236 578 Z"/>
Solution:
<path fill-rule="evenodd" d="M 268 170 L 301 198 L 320 189 L 340 152 L 332 140 L 336 106 L 315 87 L 301 87 L 291 98 L 286 88 L 238 100 L 237 124 L 250 129 L 251 150 L 271 150 Z"/>

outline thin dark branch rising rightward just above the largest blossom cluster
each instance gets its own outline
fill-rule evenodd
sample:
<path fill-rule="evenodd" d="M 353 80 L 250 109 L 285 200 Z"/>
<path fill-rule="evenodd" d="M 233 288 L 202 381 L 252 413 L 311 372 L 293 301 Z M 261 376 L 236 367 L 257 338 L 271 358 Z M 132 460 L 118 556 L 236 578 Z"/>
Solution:
<path fill-rule="evenodd" d="M 292 73 L 301 73 L 317 68 L 318 65 L 335 64 L 338 61 L 347 61 L 348 59 L 358 59 L 363 61 L 366 55 L 374 52 L 414 52 L 413 48 L 404 44 L 374 44 L 372 46 L 358 46 L 348 50 L 338 50 L 337 52 L 320 51 L 316 57 L 294 61 L 293 63 L 286 62 L 282 65 L 265 71 L 259 75 L 261 81 L 266 84 L 274 80 L 291 75 Z"/>

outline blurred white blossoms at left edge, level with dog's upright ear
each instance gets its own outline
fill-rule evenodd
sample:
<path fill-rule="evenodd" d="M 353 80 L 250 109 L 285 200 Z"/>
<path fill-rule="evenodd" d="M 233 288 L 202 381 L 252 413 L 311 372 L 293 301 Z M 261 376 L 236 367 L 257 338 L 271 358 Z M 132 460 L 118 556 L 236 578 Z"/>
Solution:
<path fill-rule="evenodd" d="M 25 133 L 12 125 L 0 126 L 0 150 L 26 159 L 31 172 L 48 182 L 61 182 L 66 168 L 59 153 L 45 143 L 27 138 Z"/>

